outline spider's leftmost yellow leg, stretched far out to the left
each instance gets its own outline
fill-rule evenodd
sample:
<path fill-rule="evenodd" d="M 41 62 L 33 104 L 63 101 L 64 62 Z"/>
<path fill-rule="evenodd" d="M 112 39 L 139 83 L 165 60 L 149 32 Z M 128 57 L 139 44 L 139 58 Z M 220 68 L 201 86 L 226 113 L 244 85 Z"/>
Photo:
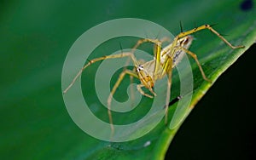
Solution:
<path fill-rule="evenodd" d="M 89 60 L 89 63 L 86 64 L 80 71 L 79 73 L 73 78 L 72 83 L 69 84 L 69 86 L 67 87 L 67 89 L 65 89 L 63 91 L 63 94 L 67 93 L 67 90 L 70 89 L 73 84 L 76 82 L 77 78 L 82 74 L 82 72 L 84 71 L 84 69 L 88 66 L 90 66 L 91 64 L 95 63 L 96 61 L 100 61 L 100 60 L 106 60 L 106 59 L 116 59 L 116 58 L 122 58 L 122 57 L 131 57 L 131 60 L 133 61 L 134 65 L 137 66 L 137 60 L 134 56 L 134 54 L 130 53 L 130 52 L 126 52 L 126 53 L 122 53 L 122 54 L 112 54 L 112 55 L 106 55 L 106 56 L 102 56 L 93 60 Z"/>

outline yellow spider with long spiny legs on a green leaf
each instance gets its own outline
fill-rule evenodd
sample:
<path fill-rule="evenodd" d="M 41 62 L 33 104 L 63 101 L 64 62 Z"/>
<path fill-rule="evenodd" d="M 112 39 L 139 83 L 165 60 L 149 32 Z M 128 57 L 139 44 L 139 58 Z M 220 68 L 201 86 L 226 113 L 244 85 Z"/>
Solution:
<path fill-rule="evenodd" d="M 73 78 L 73 81 L 69 84 L 67 89 L 63 91 L 63 93 L 67 93 L 68 89 L 70 89 L 77 78 L 82 74 L 85 68 L 90 66 L 91 64 L 95 63 L 99 60 L 107 60 L 107 59 L 118 59 L 124 57 L 130 57 L 133 65 L 134 70 L 125 69 L 119 74 L 119 78 L 117 82 L 114 84 L 113 89 L 111 90 L 108 96 L 108 117 L 109 123 L 111 126 L 111 130 L 113 133 L 113 119 L 111 115 L 111 100 L 113 99 L 113 94 L 115 93 L 116 89 L 119 87 L 119 84 L 124 79 L 125 75 L 130 75 L 131 77 L 136 77 L 140 80 L 140 84 L 137 84 L 137 90 L 149 97 L 154 98 L 156 94 L 154 93 L 154 83 L 158 79 L 161 79 L 165 76 L 168 78 L 167 82 L 167 91 L 166 91 L 166 106 L 165 106 L 165 123 L 167 123 L 167 115 L 168 115 L 168 105 L 170 102 L 170 94 L 171 94 L 171 85 L 172 85 L 172 69 L 173 67 L 177 66 L 178 62 L 183 59 L 184 54 L 189 54 L 196 62 L 197 66 L 201 71 L 201 76 L 204 80 L 211 83 L 211 80 L 207 78 L 205 75 L 199 60 L 197 59 L 196 54 L 189 51 L 189 46 L 193 41 L 193 37 L 190 34 L 195 33 L 196 31 L 201 31 L 208 29 L 212 31 L 215 35 L 217 35 L 224 43 L 230 46 L 231 49 L 240 49 L 244 48 L 244 46 L 233 46 L 229 43 L 223 36 L 221 36 L 218 31 L 215 31 L 212 26 L 210 25 L 203 25 L 199 27 L 195 27 L 189 31 L 182 31 L 176 37 L 174 37 L 172 43 L 169 43 L 165 48 L 162 49 L 162 43 L 166 41 L 165 38 L 159 39 L 141 39 L 137 42 L 137 44 L 132 48 L 131 52 L 123 52 L 121 54 L 111 54 L 105 55 L 93 60 L 89 60 L 89 62 L 79 71 L 79 73 Z M 142 44 L 142 43 L 154 43 L 154 60 L 149 60 L 147 62 L 140 62 L 136 59 L 134 52 L 135 50 Z M 142 88 L 148 89 L 150 94 L 147 94 L 143 91 Z"/>

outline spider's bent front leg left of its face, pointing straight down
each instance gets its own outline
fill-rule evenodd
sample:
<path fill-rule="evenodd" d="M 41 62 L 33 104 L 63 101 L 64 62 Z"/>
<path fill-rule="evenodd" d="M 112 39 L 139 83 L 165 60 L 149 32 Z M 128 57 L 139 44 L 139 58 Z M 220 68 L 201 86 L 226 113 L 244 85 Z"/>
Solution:
<path fill-rule="evenodd" d="M 129 74 L 132 77 L 137 77 L 137 73 L 135 71 L 125 69 L 124 71 L 122 71 L 119 74 L 119 78 L 118 78 L 117 82 L 114 84 L 113 89 L 111 90 L 111 92 L 108 96 L 108 118 L 109 118 L 109 123 L 110 123 L 111 131 L 112 131 L 112 135 L 113 135 L 114 129 L 113 129 L 113 118 L 112 118 L 111 107 L 110 107 L 111 106 L 111 101 L 113 99 L 113 94 L 115 93 L 116 89 L 119 87 L 119 84 L 124 79 L 126 74 Z"/>

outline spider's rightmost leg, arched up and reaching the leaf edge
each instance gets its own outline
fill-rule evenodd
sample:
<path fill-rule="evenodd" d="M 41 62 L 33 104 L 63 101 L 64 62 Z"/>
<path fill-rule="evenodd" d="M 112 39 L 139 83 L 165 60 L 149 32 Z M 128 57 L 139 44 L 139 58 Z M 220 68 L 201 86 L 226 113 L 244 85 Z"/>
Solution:
<path fill-rule="evenodd" d="M 230 48 L 232 49 L 240 49 L 240 48 L 244 48 L 244 46 L 233 46 L 231 43 L 229 43 L 223 36 L 221 36 L 218 31 L 215 31 L 212 26 L 210 25 L 203 25 L 203 26 L 199 26 L 199 27 L 196 27 L 190 31 L 184 31 L 184 32 L 181 32 L 177 35 L 176 39 L 179 39 L 181 37 L 185 37 L 189 34 L 192 34 L 192 33 L 195 33 L 196 31 L 201 31 L 201 30 L 205 30 L 205 29 L 208 29 L 210 31 L 212 31 L 214 34 L 216 34 L 220 39 L 222 39 L 224 41 L 224 43 L 228 44 L 230 46 Z"/>

